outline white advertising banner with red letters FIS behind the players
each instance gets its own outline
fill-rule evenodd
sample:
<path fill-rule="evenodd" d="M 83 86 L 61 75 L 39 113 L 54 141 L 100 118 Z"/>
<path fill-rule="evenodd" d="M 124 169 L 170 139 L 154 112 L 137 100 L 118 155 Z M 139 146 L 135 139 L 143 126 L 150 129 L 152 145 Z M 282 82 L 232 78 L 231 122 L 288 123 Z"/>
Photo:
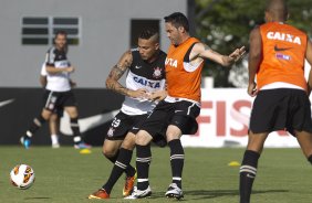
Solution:
<path fill-rule="evenodd" d="M 183 136 L 185 147 L 246 147 L 253 98 L 246 88 L 201 89 L 198 131 Z M 269 135 L 266 147 L 299 147 L 285 131 Z"/>

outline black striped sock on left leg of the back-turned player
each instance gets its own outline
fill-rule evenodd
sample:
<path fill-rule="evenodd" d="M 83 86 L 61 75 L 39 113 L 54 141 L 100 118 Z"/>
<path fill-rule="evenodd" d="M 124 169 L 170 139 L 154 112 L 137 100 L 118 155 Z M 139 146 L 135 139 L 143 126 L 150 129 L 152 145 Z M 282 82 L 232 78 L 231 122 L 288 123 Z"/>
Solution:
<path fill-rule="evenodd" d="M 256 179 L 258 159 L 260 154 L 256 151 L 246 150 L 240 167 L 240 203 L 249 203 L 253 180 Z"/>

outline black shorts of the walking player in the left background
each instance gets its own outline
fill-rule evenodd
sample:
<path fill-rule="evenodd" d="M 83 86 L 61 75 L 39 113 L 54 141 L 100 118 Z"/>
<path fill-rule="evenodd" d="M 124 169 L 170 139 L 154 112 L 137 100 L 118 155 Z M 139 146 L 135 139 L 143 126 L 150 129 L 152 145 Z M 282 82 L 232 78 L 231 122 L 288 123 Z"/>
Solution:
<path fill-rule="evenodd" d="M 76 99 L 72 90 L 52 92 L 45 89 L 43 95 L 44 108 L 53 113 L 64 107 L 76 106 Z"/>

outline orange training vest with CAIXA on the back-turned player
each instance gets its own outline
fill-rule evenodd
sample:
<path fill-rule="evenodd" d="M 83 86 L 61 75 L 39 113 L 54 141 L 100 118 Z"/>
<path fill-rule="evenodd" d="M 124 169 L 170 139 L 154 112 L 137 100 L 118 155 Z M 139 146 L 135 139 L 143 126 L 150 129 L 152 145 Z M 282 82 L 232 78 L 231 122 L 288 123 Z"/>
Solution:
<path fill-rule="evenodd" d="M 257 73 L 258 88 L 274 82 L 283 82 L 306 89 L 304 78 L 306 34 L 280 22 L 262 24 L 260 33 L 262 62 Z"/>

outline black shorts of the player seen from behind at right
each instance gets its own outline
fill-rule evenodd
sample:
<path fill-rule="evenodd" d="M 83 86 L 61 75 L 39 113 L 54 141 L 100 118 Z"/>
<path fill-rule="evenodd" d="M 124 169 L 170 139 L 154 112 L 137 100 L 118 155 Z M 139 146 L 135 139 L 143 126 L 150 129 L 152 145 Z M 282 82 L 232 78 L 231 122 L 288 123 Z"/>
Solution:
<path fill-rule="evenodd" d="M 253 133 L 288 130 L 312 132 L 311 104 L 304 90 L 260 90 L 253 101 L 249 128 Z"/>

